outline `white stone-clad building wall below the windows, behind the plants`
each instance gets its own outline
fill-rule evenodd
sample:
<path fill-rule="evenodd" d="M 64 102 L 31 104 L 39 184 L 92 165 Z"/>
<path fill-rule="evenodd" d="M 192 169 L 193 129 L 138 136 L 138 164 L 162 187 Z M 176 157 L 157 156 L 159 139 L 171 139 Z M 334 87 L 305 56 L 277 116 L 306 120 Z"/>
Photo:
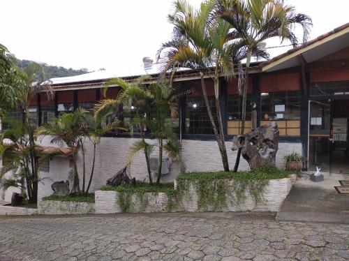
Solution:
<path fill-rule="evenodd" d="M 47 142 L 47 138 L 45 139 Z M 45 140 L 43 142 L 45 142 Z M 97 146 L 96 152 L 96 163 L 94 179 L 91 184 L 91 192 L 98 190 L 101 186 L 105 185 L 105 181 L 112 177 L 118 170 L 124 167 L 128 160 L 128 148 L 135 142 L 134 138 L 127 137 L 103 137 L 101 144 Z M 148 142 L 154 142 L 154 140 L 148 140 Z M 218 150 L 216 141 L 202 141 L 202 140 L 183 140 L 183 157 L 185 159 L 186 168 L 188 172 L 193 171 L 217 171 L 222 170 L 223 165 L 221 162 L 221 156 Z M 52 146 L 52 144 L 50 144 Z M 230 149 L 230 142 L 227 142 L 228 159 L 230 168 L 235 164 L 235 158 L 237 151 Z M 92 158 L 93 158 L 93 147 L 90 142 L 85 142 L 87 154 L 86 170 L 87 179 L 90 176 Z M 301 143 L 280 143 L 279 151 L 276 154 L 276 165 L 283 167 L 283 156 L 295 151 L 302 154 Z M 157 151 L 154 151 L 156 156 Z M 56 157 L 58 158 L 58 157 Z M 65 162 L 64 162 L 65 161 Z M 61 158 L 60 160 L 51 161 L 50 174 L 45 174 L 45 177 L 50 177 L 52 182 L 62 181 L 67 179 L 70 168 L 68 167 L 68 158 Z M 79 155 L 78 167 L 80 174 L 80 187 L 82 186 L 82 156 Z M 239 170 L 248 170 L 248 163 L 242 158 L 239 165 Z M 177 177 L 179 170 L 177 167 L 172 167 L 172 170 L 168 174 L 164 174 L 161 178 L 161 182 L 173 182 Z M 144 154 L 138 154 L 135 156 L 133 163 L 131 164 L 131 170 L 128 174 L 131 177 L 135 177 L 138 180 L 147 180 L 147 167 L 145 163 Z M 48 182 L 51 186 L 52 182 Z M 43 195 L 52 193 L 51 188 L 42 188 Z M 50 195 L 50 194 L 48 194 Z"/>

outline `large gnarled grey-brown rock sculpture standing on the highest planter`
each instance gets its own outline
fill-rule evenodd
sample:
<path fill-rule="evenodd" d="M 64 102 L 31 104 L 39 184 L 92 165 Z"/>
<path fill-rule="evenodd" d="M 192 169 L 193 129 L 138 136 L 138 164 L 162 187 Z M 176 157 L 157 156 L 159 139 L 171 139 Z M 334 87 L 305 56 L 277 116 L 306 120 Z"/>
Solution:
<path fill-rule="evenodd" d="M 232 141 L 232 150 L 239 148 L 242 148 L 242 156 L 251 170 L 265 164 L 275 165 L 276 151 L 279 148 L 279 128 L 276 122 L 260 126 L 245 135 L 236 135 Z"/>

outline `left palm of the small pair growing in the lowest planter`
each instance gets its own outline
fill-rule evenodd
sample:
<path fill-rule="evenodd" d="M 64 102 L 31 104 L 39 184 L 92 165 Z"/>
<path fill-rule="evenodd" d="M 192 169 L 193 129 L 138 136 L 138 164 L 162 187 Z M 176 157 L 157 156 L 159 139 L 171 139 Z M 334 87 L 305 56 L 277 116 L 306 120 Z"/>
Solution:
<path fill-rule="evenodd" d="M 78 108 L 73 113 L 64 113 L 52 122 L 47 122 L 36 129 L 36 135 L 52 135 L 52 141 L 61 146 L 68 146 L 72 151 L 73 170 L 70 174 L 73 177 L 73 188 L 70 193 L 80 195 L 79 174 L 77 172 L 77 153 L 81 149 L 81 138 L 86 128 L 85 116 L 87 111 Z"/>

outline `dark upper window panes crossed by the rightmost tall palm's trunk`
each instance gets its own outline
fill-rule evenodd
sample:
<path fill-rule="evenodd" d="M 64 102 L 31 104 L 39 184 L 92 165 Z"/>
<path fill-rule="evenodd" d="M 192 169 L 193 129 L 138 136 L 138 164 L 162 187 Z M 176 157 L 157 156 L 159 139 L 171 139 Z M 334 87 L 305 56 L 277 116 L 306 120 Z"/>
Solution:
<path fill-rule="evenodd" d="M 247 94 L 246 100 L 246 119 L 251 120 L 252 110 L 252 97 L 251 94 Z M 242 119 L 242 96 L 237 94 L 228 95 L 227 98 L 227 113 L 228 120 L 241 120 Z"/>

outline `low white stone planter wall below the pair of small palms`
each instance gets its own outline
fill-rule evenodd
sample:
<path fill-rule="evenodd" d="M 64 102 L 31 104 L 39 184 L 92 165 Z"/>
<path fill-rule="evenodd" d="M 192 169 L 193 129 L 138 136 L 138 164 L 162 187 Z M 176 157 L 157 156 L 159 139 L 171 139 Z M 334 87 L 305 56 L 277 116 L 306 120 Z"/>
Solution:
<path fill-rule="evenodd" d="M 39 214 L 89 214 L 94 213 L 94 203 L 61 202 L 54 200 L 39 200 Z"/>

